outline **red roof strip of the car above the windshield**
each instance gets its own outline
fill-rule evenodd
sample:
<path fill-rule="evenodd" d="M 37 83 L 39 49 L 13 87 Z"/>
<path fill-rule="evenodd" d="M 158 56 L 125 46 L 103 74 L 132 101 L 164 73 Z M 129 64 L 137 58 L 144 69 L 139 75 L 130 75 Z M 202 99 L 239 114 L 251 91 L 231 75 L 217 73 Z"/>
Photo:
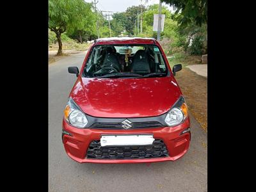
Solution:
<path fill-rule="evenodd" d="M 109 45 L 109 44 L 157 44 L 155 38 L 143 37 L 110 37 L 98 38 L 94 41 L 96 45 Z"/>

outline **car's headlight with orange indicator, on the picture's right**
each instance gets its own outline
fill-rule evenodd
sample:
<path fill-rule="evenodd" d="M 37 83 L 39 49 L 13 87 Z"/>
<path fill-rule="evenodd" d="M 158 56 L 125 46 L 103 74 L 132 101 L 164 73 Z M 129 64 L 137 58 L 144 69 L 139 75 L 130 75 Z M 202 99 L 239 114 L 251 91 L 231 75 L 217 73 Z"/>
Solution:
<path fill-rule="evenodd" d="M 167 113 L 164 122 L 166 122 L 168 126 L 175 126 L 183 122 L 187 116 L 188 106 L 186 105 L 184 97 L 181 96 Z"/>

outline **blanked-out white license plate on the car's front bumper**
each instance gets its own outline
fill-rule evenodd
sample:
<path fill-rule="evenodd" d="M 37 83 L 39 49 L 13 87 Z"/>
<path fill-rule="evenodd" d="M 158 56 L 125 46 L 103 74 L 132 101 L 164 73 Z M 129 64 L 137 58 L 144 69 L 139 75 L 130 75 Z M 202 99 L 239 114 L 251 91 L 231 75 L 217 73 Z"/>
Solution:
<path fill-rule="evenodd" d="M 154 140 L 152 134 L 102 135 L 100 146 L 152 145 Z"/>

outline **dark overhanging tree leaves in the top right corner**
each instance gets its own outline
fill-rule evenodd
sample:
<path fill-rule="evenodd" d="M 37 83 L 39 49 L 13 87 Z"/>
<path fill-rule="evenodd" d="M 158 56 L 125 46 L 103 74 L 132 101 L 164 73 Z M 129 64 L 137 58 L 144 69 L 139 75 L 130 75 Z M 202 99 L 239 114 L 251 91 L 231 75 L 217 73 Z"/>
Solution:
<path fill-rule="evenodd" d="M 207 0 L 161 0 L 176 9 L 173 17 L 182 28 L 191 22 L 197 26 L 207 23 Z"/>

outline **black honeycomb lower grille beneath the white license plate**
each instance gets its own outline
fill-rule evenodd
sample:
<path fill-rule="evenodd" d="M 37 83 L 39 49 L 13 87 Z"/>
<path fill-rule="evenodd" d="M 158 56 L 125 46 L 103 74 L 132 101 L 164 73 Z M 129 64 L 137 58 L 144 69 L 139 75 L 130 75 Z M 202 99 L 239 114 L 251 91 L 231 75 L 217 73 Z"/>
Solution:
<path fill-rule="evenodd" d="M 145 159 L 166 156 L 168 150 L 162 140 L 155 140 L 153 145 L 136 147 L 101 147 L 100 140 L 94 140 L 86 153 L 87 159 Z"/>

